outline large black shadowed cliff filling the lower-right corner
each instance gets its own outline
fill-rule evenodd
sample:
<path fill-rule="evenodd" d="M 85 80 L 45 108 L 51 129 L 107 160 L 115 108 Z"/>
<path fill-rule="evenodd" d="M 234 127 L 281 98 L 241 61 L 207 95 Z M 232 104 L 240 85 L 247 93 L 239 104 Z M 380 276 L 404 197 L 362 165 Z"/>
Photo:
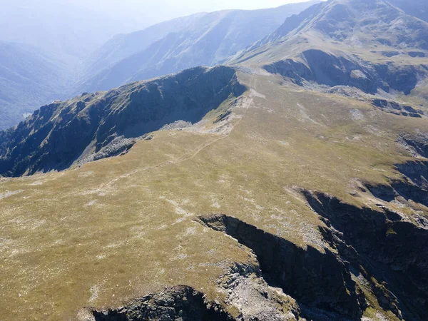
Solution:
<path fill-rule="evenodd" d="M 323 193 L 303 192 L 327 225 L 325 238 L 369 276 L 379 304 L 404 320 L 428 310 L 428 230 L 391 213 L 357 208 Z"/>

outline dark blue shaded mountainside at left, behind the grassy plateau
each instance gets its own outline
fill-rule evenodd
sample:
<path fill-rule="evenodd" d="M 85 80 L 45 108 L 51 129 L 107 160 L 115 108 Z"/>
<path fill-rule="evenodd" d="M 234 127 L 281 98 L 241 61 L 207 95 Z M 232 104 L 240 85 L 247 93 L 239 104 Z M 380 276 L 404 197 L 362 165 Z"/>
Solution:
<path fill-rule="evenodd" d="M 220 66 L 51 103 L 0 133 L 1 175 L 66 168 L 120 136 L 136 138 L 175 121 L 197 123 L 244 91 L 235 71 Z"/>

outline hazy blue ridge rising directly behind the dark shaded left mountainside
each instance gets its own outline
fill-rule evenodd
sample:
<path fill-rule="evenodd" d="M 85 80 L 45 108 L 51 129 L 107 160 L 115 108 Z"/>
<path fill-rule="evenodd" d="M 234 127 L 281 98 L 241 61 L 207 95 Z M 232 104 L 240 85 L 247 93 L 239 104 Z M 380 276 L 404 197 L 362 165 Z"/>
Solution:
<path fill-rule="evenodd" d="M 214 66 L 317 2 L 196 14 L 116 36 L 88 60 L 78 91 L 108 90 L 185 68 Z"/>

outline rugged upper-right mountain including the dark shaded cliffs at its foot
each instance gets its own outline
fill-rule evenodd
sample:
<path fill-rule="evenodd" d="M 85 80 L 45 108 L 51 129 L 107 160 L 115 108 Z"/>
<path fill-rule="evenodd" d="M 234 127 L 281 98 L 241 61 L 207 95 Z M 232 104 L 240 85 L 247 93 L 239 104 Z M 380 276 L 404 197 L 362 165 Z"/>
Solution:
<path fill-rule="evenodd" d="M 388 1 L 331 0 L 288 18 L 229 63 L 261 63 L 300 85 L 407 95 L 428 75 L 426 56 L 426 22 Z"/>

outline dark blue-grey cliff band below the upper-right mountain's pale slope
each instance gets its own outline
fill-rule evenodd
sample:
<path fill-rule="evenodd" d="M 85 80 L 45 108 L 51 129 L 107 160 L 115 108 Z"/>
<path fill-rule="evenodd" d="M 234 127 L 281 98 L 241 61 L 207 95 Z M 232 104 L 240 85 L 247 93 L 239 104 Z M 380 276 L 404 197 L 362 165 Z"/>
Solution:
<path fill-rule="evenodd" d="M 333 86 L 352 86 L 365 93 L 383 91 L 402 91 L 409 94 L 417 85 L 417 77 L 426 75 L 424 66 L 395 66 L 394 64 L 372 65 L 367 61 L 346 56 L 334 56 L 324 51 L 310 49 L 302 53 L 300 61 L 287 59 L 264 66 L 270 73 L 279 73 L 294 79 L 297 84 L 302 81 Z"/>

